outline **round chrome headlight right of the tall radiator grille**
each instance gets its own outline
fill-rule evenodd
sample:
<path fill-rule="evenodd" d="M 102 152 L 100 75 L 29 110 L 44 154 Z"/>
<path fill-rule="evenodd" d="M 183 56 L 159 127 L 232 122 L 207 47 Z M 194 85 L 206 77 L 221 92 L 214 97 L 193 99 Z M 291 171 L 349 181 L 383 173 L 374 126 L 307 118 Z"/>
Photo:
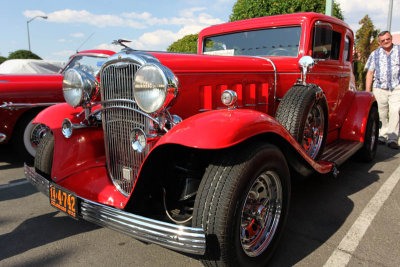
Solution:
<path fill-rule="evenodd" d="M 147 113 L 168 107 L 178 94 L 178 79 L 160 64 L 146 64 L 135 74 L 133 95 L 138 106 Z"/>

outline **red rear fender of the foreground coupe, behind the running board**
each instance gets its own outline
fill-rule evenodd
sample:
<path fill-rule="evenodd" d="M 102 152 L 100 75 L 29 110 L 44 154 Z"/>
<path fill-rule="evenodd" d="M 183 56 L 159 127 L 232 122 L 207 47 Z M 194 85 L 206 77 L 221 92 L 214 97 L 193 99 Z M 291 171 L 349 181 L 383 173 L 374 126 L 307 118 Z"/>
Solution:
<path fill-rule="evenodd" d="M 364 142 L 369 111 L 375 102 L 370 92 L 357 92 L 340 131 L 340 138 Z"/>

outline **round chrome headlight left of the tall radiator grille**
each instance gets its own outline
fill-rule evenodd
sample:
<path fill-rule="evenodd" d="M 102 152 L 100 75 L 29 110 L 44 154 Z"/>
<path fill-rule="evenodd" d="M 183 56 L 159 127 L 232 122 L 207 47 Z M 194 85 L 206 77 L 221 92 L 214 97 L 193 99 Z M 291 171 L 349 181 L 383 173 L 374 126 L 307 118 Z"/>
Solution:
<path fill-rule="evenodd" d="M 96 94 L 97 84 L 96 78 L 83 70 L 67 70 L 63 79 L 65 101 L 74 108 L 89 103 Z"/>

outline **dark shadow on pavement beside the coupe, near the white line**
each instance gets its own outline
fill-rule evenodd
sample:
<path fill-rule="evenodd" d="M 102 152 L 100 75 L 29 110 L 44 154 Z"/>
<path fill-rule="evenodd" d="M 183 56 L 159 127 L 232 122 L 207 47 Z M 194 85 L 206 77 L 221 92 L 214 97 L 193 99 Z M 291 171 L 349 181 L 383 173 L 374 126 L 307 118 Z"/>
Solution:
<path fill-rule="evenodd" d="M 292 177 L 290 214 L 270 266 L 293 266 L 323 245 L 352 212 L 354 203 L 349 196 L 379 180 L 383 171 L 370 171 L 372 167 L 380 161 L 396 160 L 398 153 L 398 150 L 379 147 L 373 162 L 350 159 L 339 167 L 337 178 L 330 175 Z M 317 264 L 321 263 L 314 266 Z"/>

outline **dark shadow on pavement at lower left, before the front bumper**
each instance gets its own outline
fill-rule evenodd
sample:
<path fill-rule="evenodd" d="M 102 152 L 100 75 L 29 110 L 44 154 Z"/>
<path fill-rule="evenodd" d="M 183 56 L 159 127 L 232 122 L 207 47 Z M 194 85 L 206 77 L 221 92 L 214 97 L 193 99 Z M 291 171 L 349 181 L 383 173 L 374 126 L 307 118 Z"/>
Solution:
<path fill-rule="evenodd" d="M 27 219 L 12 232 L 0 235 L 0 261 L 33 248 L 99 228 L 67 216 L 55 217 L 57 213 L 51 212 Z"/>

